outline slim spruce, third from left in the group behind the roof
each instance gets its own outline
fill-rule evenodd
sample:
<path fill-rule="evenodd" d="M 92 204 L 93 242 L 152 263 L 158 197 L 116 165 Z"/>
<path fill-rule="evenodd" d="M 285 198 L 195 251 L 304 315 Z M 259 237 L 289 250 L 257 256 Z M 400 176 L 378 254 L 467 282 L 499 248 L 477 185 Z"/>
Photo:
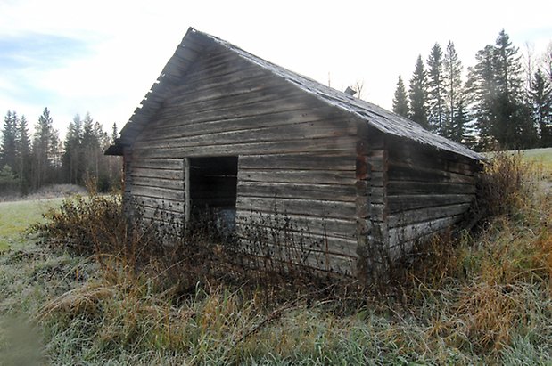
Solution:
<path fill-rule="evenodd" d="M 446 120 L 445 98 L 444 98 L 444 75 L 441 45 L 433 45 L 432 51 L 427 59 L 428 80 L 427 80 L 427 104 L 428 124 L 430 129 L 449 137 L 450 128 Z"/>

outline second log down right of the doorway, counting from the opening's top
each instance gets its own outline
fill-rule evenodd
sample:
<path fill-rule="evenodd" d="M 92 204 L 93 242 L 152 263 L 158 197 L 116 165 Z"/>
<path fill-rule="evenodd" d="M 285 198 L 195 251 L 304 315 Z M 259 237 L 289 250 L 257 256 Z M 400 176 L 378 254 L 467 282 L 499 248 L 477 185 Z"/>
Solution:
<path fill-rule="evenodd" d="M 340 184 L 354 187 L 354 172 L 328 170 L 256 170 L 240 169 L 240 182 Z"/>

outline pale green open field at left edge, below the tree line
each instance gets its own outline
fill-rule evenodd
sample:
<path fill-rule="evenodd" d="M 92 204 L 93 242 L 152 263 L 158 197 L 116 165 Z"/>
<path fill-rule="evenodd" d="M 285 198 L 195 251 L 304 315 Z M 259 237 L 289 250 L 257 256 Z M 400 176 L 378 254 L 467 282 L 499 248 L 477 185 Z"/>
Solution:
<path fill-rule="evenodd" d="M 23 232 L 30 224 L 41 221 L 49 207 L 57 207 L 62 198 L 0 202 L 0 251 L 28 243 Z"/>

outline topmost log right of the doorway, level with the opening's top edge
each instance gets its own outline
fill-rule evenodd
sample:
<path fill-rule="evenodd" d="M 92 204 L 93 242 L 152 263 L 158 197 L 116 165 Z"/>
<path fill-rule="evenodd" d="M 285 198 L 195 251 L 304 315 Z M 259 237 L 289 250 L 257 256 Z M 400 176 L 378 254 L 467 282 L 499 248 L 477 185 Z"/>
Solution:
<path fill-rule="evenodd" d="M 240 156 L 240 168 L 263 169 L 315 169 L 315 170 L 355 170 L 355 159 L 350 155 L 246 155 Z"/>

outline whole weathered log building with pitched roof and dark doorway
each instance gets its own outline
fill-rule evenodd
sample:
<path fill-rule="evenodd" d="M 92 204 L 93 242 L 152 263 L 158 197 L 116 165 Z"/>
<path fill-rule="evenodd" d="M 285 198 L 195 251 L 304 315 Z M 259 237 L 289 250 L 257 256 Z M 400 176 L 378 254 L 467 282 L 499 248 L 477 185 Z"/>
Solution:
<path fill-rule="evenodd" d="M 129 215 L 209 205 L 239 232 L 284 213 L 325 243 L 307 265 L 359 277 L 457 223 L 482 159 L 194 28 L 106 154 L 124 157 Z"/>

